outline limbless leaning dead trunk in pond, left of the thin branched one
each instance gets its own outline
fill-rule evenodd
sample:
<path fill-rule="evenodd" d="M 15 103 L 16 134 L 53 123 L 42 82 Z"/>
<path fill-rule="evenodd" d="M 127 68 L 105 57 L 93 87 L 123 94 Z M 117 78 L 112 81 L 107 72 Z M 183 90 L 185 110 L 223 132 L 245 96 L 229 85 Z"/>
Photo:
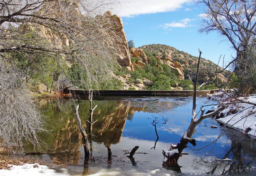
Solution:
<path fill-rule="evenodd" d="M 88 163 L 89 158 L 90 158 L 90 151 L 89 151 L 89 147 L 88 147 L 88 135 L 86 134 L 85 129 L 83 128 L 83 126 L 81 124 L 81 119 L 79 117 L 78 108 L 79 108 L 79 105 L 75 106 L 75 111 L 76 111 L 75 117 L 76 117 L 76 123 L 77 123 L 78 129 L 83 136 L 83 149 L 85 151 L 85 164 L 86 164 L 86 163 Z"/>

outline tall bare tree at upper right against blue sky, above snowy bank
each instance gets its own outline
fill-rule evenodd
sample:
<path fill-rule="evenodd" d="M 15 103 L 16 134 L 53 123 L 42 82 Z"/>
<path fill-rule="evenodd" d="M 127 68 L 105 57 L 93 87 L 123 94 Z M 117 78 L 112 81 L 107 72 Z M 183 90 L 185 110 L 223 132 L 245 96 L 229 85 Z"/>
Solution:
<path fill-rule="evenodd" d="M 233 66 L 241 91 L 256 89 L 255 46 L 256 3 L 254 0 L 198 0 L 206 7 L 200 32 L 217 31 L 231 43 L 236 56 L 226 66 Z"/>

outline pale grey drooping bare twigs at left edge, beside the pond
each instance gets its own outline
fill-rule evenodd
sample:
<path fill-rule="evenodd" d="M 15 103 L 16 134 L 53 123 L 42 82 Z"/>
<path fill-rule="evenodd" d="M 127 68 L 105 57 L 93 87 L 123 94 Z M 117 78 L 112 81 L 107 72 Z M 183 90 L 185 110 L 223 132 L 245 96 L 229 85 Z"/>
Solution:
<path fill-rule="evenodd" d="M 26 142 L 38 149 L 37 133 L 45 131 L 43 116 L 29 96 L 23 76 L 13 67 L 0 68 L 0 145 L 13 153 Z"/>

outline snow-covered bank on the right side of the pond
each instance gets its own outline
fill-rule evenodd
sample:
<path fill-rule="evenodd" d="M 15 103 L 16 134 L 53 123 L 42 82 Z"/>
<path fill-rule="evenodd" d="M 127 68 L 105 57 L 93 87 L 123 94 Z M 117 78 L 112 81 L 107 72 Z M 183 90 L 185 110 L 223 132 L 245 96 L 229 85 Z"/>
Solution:
<path fill-rule="evenodd" d="M 254 105 L 248 103 L 235 103 L 238 100 L 228 98 L 228 95 L 221 94 L 221 92 L 211 95 L 214 100 L 219 100 L 219 103 L 225 106 L 225 109 L 219 113 L 216 120 L 235 128 L 237 130 L 243 131 L 250 136 L 256 136 L 256 95 L 251 95 L 248 97 L 239 97 L 239 100 L 254 103 Z M 224 105 L 226 103 L 231 103 Z M 214 108 L 217 108 L 215 106 Z"/>

